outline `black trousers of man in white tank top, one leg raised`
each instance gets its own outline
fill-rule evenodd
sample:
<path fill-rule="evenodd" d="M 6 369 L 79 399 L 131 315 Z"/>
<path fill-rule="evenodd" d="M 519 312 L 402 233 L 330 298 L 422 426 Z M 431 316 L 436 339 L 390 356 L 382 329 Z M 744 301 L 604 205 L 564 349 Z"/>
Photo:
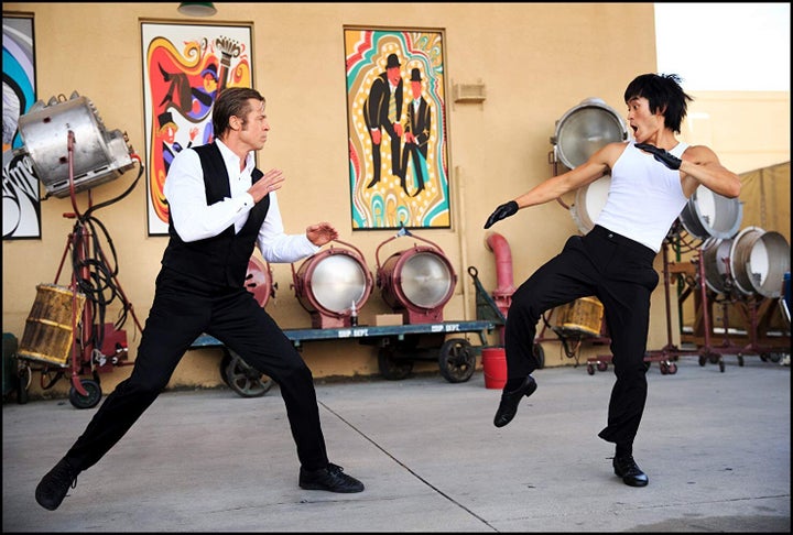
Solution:
<path fill-rule="evenodd" d="M 507 316 L 508 378 L 524 378 L 539 367 L 533 346 L 542 314 L 579 297 L 600 299 L 617 376 L 608 425 L 598 434 L 609 443 L 632 444 L 644 412 L 650 296 L 659 283 L 654 258 L 652 249 L 596 226 L 584 237 L 571 237 L 558 255 L 521 284 Z"/>

